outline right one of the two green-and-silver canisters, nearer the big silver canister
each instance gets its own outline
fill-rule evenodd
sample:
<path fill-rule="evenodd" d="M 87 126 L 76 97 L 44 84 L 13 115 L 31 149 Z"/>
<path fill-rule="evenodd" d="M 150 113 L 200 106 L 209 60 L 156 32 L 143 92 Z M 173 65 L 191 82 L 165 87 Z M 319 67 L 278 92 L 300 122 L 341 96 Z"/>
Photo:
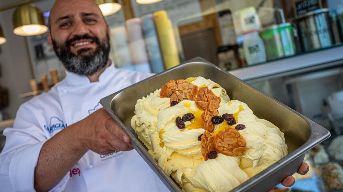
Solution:
<path fill-rule="evenodd" d="M 278 31 L 281 37 L 282 51 L 285 56 L 294 55 L 296 52 L 296 46 L 294 42 L 293 26 L 290 23 L 279 24 Z"/>

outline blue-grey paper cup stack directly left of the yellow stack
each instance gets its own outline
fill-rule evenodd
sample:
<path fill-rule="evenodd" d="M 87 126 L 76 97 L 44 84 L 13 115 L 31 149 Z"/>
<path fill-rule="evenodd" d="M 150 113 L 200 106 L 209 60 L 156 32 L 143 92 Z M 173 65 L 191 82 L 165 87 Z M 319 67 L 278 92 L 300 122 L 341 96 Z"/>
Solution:
<path fill-rule="evenodd" d="M 145 47 L 149 57 L 152 72 L 159 73 L 164 70 L 161 50 L 159 49 L 154 16 L 152 14 L 141 17 L 144 33 Z"/>

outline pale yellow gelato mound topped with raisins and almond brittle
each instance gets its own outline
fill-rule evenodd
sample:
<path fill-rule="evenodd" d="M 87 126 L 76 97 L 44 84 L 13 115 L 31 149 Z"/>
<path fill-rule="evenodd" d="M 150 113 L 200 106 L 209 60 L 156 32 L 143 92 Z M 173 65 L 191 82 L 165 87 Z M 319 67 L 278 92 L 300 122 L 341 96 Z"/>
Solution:
<path fill-rule="evenodd" d="M 131 126 L 183 191 L 227 192 L 288 154 L 284 134 L 203 77 L 137 101 Z"/>

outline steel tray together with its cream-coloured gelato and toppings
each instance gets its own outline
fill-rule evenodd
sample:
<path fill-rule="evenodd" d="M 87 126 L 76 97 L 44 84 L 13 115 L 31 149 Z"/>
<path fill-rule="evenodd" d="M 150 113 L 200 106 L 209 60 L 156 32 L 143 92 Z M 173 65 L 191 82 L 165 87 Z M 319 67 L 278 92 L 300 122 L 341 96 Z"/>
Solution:
<path fill-rule="evenodd" d="M 172 192 L 268 191 L 330 136 L 199 57 L 100 103 Z"/>

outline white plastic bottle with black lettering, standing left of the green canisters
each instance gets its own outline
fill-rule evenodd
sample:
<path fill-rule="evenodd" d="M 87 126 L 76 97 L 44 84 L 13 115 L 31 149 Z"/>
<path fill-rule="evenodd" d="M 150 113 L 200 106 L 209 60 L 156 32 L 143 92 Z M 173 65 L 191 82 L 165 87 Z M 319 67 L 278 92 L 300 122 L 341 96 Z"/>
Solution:
<path fill-rule="evenodd" d="M 264 43 L 257 30 L 246 33 L 243 42 L 243 50 L 248 65 L 267 61 Z"/>

